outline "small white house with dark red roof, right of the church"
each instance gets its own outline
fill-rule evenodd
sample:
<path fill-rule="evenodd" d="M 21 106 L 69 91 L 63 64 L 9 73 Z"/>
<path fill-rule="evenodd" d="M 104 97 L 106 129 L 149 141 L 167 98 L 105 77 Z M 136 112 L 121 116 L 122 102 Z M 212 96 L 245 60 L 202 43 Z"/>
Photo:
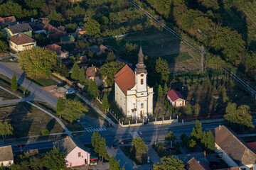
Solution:
<path fill-rule="evenodd" d="M 181 92 L 174 89 L 167 92 L 167 99 L 174 107 L 185 106 L 186 98 L 182 96 Z"/>

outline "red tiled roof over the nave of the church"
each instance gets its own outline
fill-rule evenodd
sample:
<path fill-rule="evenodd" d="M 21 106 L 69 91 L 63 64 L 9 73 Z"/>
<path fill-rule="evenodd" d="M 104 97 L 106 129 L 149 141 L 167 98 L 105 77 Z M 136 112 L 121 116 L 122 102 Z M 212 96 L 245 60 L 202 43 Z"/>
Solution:
<path fill-rule="evenodd" d="M 114 82 L 127 95 L 127 90 L 132 89 L 135 86 L 135 74 L 126 64 L 120 71 L 114 75 Z"/>

